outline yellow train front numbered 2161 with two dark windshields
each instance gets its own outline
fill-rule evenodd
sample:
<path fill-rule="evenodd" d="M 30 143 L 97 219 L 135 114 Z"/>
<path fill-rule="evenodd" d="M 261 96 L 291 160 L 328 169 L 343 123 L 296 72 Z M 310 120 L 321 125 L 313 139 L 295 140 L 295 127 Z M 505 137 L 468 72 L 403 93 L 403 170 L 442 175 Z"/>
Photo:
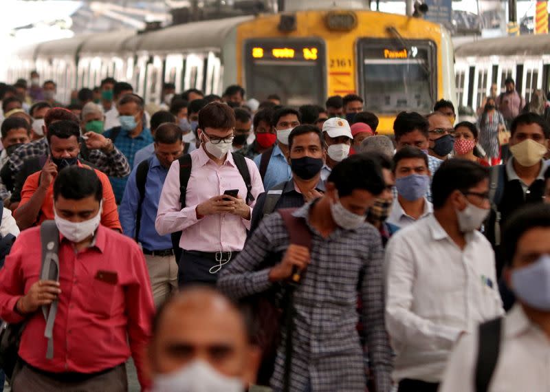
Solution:
<path fill-rule="evenodd" d="M 359 94 L 391 133 L 400 111 L 431 111 L 456 100 L 453 50 L 440 25 L 371 11 L 274 14 L 236 28 L 236 80 L 259 100 L 324 104 Z"/>

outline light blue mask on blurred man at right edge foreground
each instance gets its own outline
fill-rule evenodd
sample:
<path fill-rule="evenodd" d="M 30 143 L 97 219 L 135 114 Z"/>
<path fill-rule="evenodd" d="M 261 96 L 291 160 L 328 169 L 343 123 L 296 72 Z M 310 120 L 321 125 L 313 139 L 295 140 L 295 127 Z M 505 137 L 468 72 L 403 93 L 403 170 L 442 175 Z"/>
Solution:
<path fill-rule="evenodd" d="M 543 254 L 527 267 L 513 270 L 511 285 L 522 302 L 550 312 L 550 255 Z"/>

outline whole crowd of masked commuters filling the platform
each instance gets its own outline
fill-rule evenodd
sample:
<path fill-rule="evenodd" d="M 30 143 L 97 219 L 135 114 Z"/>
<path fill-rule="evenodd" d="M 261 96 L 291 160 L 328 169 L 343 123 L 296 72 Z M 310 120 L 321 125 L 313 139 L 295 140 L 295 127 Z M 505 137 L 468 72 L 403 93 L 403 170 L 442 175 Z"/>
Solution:
<path fill-rule="evenodd" d="M 155 392 L 548 389 L 550 124 L 513 80 L 393 135 L 355 94 L 162 95 L 0 85 L 13 391 L 126 391 L 130 356 Z"/>

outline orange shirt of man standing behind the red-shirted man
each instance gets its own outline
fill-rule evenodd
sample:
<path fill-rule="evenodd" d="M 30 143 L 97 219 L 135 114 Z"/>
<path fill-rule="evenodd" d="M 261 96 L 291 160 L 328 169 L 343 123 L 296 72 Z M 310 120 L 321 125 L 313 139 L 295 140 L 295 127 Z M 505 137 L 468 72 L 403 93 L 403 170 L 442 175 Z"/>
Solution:
<path fill-rule="evenodd" d="M 83 165 L 78 162 L 78 166 L 82 167 Z M 103 186 L 103 208 L 101 213 L 101 224 L 108 228 L 122 230 L 120 226 L 120 221 L 118 220 L 118 211 L 116 208 L 115 196 L 113 195 L 113 188 L 111 188 L 111 184 L 109 184 L 109 179 L 106 175 L 104 175 L 97 169 L 94 169 L 94 171 L 96 172 L 96 175 L 98 175 L 98 178 Z M 21 202 L 19 203 L 18 209 L 15 210 L 15 215 L 17 215 L 17 211 L 19 210 L 19 208 L 30 201 L 32 195 L 34 195 L 34 193 L 36 192 L 36 189 L 39 188 L 41 174 L 41 171 L 37 171 L 36 173 L 27 177 L 27 179 L 25 180 L 23 190 L 21 190 Z M 54 219 L 53 181 L 46 190 L 44 202 L 42 203 L 42 206 L 40 208 L 39 216 L 36 217 L 36 219 L 37 224 L 41 224 L 46 219 Z"/>

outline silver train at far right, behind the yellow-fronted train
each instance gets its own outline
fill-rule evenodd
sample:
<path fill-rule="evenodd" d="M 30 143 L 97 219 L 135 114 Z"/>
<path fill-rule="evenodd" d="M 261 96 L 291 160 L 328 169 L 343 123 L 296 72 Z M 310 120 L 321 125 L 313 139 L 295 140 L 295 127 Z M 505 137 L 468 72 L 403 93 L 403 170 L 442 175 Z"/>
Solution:
<path fill-rule="evenodd" d="M 476 110 L 496 83 L 504 91 L 506 78 L 529 102 L 536 89 L 550 90 L 548 34 L 505 36 L 464 43 L 455 50 L 456 91 L 459 106 Z"/>

